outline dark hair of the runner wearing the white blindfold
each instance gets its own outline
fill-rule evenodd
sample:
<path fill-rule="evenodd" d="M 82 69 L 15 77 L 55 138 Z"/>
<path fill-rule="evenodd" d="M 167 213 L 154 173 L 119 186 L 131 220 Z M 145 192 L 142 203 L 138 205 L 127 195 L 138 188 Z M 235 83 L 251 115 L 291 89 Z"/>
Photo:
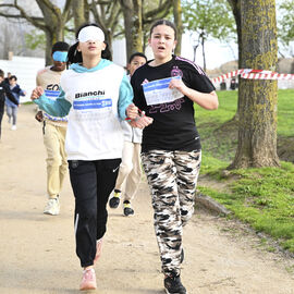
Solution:
<path fill-rule="evenodd" d="M 77 39 L 78 33 L 81 32 L 82 28 L 87 27 L 87 26 L 97 26 L 100 29 L 102 29 L 99 25 L 97 25 L 96 23 L 86 23 L 83 24 L 82 26 L 78 27 L 78 29 L 75 33 L 75 38 Z M 103 30 L 103 29 L 102 29 Z M 107 44 L 107 41 L 105 41 L 106 44 L 106 49 L 101 52 L 101 58 L 103 59 L 108 59 L 108 60 L 112 60 L 112 56 L 111 52 L 109 50 L 109 46 Z M 82 52 L 78 52 L 76 50 L 78 45 L 78 41 L 76 41 L 73 46 L 70 47 L 69 49 L 69 53 L 68 53 L 68 65 L 72 64 L 72 63 L 82 63 L 83 62 L 83 57 L 82 57 Z"/>

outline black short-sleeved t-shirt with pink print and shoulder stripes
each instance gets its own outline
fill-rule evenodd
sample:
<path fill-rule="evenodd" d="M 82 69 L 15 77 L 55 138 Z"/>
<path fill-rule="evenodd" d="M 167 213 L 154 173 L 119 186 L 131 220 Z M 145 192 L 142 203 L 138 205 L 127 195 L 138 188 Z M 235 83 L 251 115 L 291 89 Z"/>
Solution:
<path fill-rule="evenodd" d="M 142 151 L 200 149 L 193 101 L 183 96 L 173 102 L 147 106 L 143 84 L 181 76 L 184 84 L 195 90 L 211 93 L 216 88 L 197 64 L 184 58 L 173 56 L 172 60 L 159 66 L 150 66 L 149 62 L 138 68 L 131 78 L 134 103 L 154 119 L 152 124 L 143 131 Z"/>

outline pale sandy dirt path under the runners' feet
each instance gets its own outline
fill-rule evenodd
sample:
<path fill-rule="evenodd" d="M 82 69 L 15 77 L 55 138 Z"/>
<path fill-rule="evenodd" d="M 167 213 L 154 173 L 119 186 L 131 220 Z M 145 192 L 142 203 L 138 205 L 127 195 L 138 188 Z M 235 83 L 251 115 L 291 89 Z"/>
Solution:
<path fill-rule="evenodd" d="M 0 293 L 79 293 L 74 249 L 73 195 L 66 179 L 61 213 L 42 215 L 46 163 L 34 106 L 19 110 L 17 130 L 4 115 L 0 143 Z M 162 273 L 146 182 L 136 215 L 109 209 L 102 256 L 96 266 L 100 294 L 163 294 Z M 184 231 L 182 281 L 188 294 L 291 294 L 294 260 L 266 252 L 259 238 L 231 221 L 198 211 Z"/>

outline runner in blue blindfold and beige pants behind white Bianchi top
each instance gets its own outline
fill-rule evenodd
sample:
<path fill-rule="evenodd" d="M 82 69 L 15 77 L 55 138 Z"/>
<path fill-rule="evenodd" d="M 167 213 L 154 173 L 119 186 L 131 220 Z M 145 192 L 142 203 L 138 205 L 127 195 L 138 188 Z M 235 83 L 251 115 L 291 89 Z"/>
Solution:
<path fill-rule="evenodd" d="M 66 69 L 69 48 L 69 44 L 64 41 L 56 42 L 52 46 L 53 64 L 37 73 L 37 86 L 40 86 L 51 100 L 57 99 L 60 94 L 60 77 Z M 38 111 L 35 118 L 42 123 L 44 145 L 47 151 L 48 200 L 44 213 L 57 216 L 60 212 L 60 192 L 68 173 L 68 158 L 64 149 L 68 117 L 59 118 Z"/>

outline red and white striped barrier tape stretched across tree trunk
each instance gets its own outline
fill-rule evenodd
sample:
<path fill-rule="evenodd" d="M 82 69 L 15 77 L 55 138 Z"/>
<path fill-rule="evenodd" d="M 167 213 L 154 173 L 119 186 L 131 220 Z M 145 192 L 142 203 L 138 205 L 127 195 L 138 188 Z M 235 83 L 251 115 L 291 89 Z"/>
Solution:
<path fill-rule="evenodd" d="M 216 84 L 237 75 L 240 75 L 242 78 L 250 79 L 294 79 L 294 74 L 280 74 L 271 71 L 244 69 L 232 71 L 221 76 L 211 78 L 211 82 Z"/>

